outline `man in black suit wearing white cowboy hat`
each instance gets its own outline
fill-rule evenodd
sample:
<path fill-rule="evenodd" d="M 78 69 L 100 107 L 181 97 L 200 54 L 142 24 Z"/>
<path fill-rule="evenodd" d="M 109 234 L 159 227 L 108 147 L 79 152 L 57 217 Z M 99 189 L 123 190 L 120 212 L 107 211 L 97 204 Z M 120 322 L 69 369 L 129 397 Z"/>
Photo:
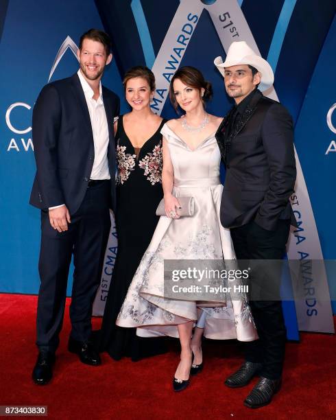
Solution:
<path fill-rule="evenodd" d="M 216 133 L 226 164 L 221 224 L 230 228 L 238 259 L 281 260 L 289 226 L 296 225 L 289 204 L 296 180 L 291 116 L 261 93 L 272 86 L 273 71 L 247 43 L 232 43 L 226 60 L 217 57 L 215 65 L 224 76 L 226 92 L 235 100 Z M 225 382 L 236 388 L 260 376 L 244 401 L 250 408 L 269 404 L 280 389 L 285 355 L 286 328 L 277 296 L 279 264 L 267 270 L 265 262 L 256 279 L 260 300 L 250 295 L 259 340 L 246 343 L 245 362 Z M 255 281 L 252 289 L 254 285 Z M 267 288 L 271 292 L 266 295 Z"/>

